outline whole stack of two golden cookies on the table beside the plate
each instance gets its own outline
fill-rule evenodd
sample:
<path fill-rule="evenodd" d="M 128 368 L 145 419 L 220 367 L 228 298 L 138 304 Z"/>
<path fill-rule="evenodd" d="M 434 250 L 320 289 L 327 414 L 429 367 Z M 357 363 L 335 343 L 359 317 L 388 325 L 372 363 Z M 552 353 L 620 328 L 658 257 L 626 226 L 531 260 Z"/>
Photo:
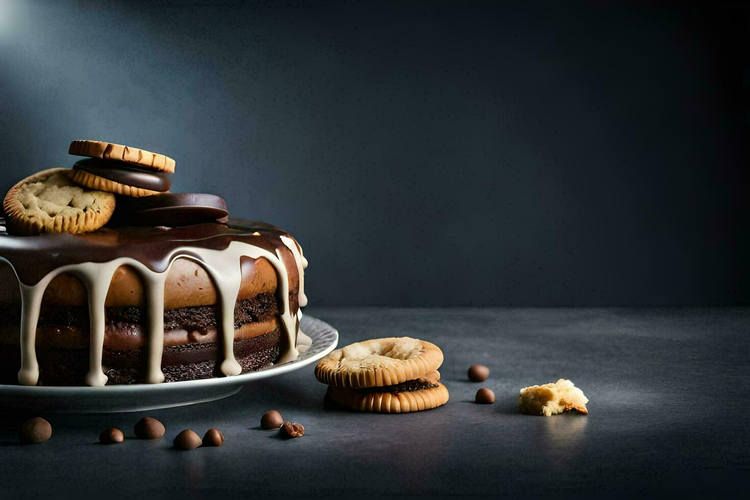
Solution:
<path fill-rule="evenodd" d="M 326 396 L 359 412 L 421 412 L 448 402 L 437 369 L 443 352 L 434 343 L 390 337 L 353 343 L 320 360 L 315 376 Z"/>

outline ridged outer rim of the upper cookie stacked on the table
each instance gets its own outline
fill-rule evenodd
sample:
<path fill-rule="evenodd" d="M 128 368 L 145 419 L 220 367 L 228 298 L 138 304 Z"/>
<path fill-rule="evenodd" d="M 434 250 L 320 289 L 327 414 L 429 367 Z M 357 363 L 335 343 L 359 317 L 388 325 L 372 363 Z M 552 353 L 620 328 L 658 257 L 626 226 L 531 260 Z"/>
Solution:
<path fill-rule="evenodd" d="M 395 340 L 396 338 L 372 339 L 364 342 Z M 359 370 L 341 370 L 335 356 L 339 355 L 344 348 L 336 349 L 320 360 L 315 367 L 315 377 L 323 384 L 355 389 L 396 385 L 407 380 L 419 379 L 437 370 L 443 364 L 443 351 L 440 347 L 426 340 L 419 340 L 419 342 L 422 343 L 424 351 L 416 358 L 393 359 L 389 367 L 379 366 Z"/>

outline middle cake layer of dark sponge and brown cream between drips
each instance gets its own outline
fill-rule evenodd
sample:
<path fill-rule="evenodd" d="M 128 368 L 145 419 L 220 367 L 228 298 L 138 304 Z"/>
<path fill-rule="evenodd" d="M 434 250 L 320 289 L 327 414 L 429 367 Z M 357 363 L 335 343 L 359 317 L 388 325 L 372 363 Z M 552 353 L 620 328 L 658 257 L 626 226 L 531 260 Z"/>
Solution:
<path fill-rule="evenodd" d="M 139 349 L 146 345 L 146 312 L 142 307 L 106 307 L 104 347 Z M 235 340 L 249 339 L 279 326 L 275 295 L 263 293 L 237 301 Z M 0 344 L 17 344 L 20 324 L 18 304 L 0 303 Z M 217 341 L 214 306 L 181 307 L 164 311 L 164 346 Z M 37 322 L 36 345 L 88 349 L 89 310 L 83 306 L 44 306 Z"/>

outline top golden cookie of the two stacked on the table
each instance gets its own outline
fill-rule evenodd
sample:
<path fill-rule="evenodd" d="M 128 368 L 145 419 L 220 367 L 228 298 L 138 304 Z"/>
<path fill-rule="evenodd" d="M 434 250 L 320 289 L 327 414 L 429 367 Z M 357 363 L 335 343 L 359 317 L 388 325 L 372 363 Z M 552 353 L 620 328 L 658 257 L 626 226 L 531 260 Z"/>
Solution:
<path fill-rule="evenodd" d="M 320 382 L 341 388 L 396 385 L 437 370 L 443 351 L 410 337 L 365 340 L 336 349 L 315 367 Z"/>

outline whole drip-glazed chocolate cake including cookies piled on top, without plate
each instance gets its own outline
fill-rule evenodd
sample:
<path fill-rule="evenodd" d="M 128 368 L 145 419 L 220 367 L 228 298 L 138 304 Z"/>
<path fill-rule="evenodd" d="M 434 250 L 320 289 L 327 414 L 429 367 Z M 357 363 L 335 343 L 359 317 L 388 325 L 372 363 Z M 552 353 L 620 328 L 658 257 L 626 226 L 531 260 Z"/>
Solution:
<path fill-rule="evenodd" d="M 236 376 L 290 361 L 307 260 L 295 238 L 169 193 L 175 162 L 108 142 L 5 197 L 0 383 L 107 385 Z"/>

